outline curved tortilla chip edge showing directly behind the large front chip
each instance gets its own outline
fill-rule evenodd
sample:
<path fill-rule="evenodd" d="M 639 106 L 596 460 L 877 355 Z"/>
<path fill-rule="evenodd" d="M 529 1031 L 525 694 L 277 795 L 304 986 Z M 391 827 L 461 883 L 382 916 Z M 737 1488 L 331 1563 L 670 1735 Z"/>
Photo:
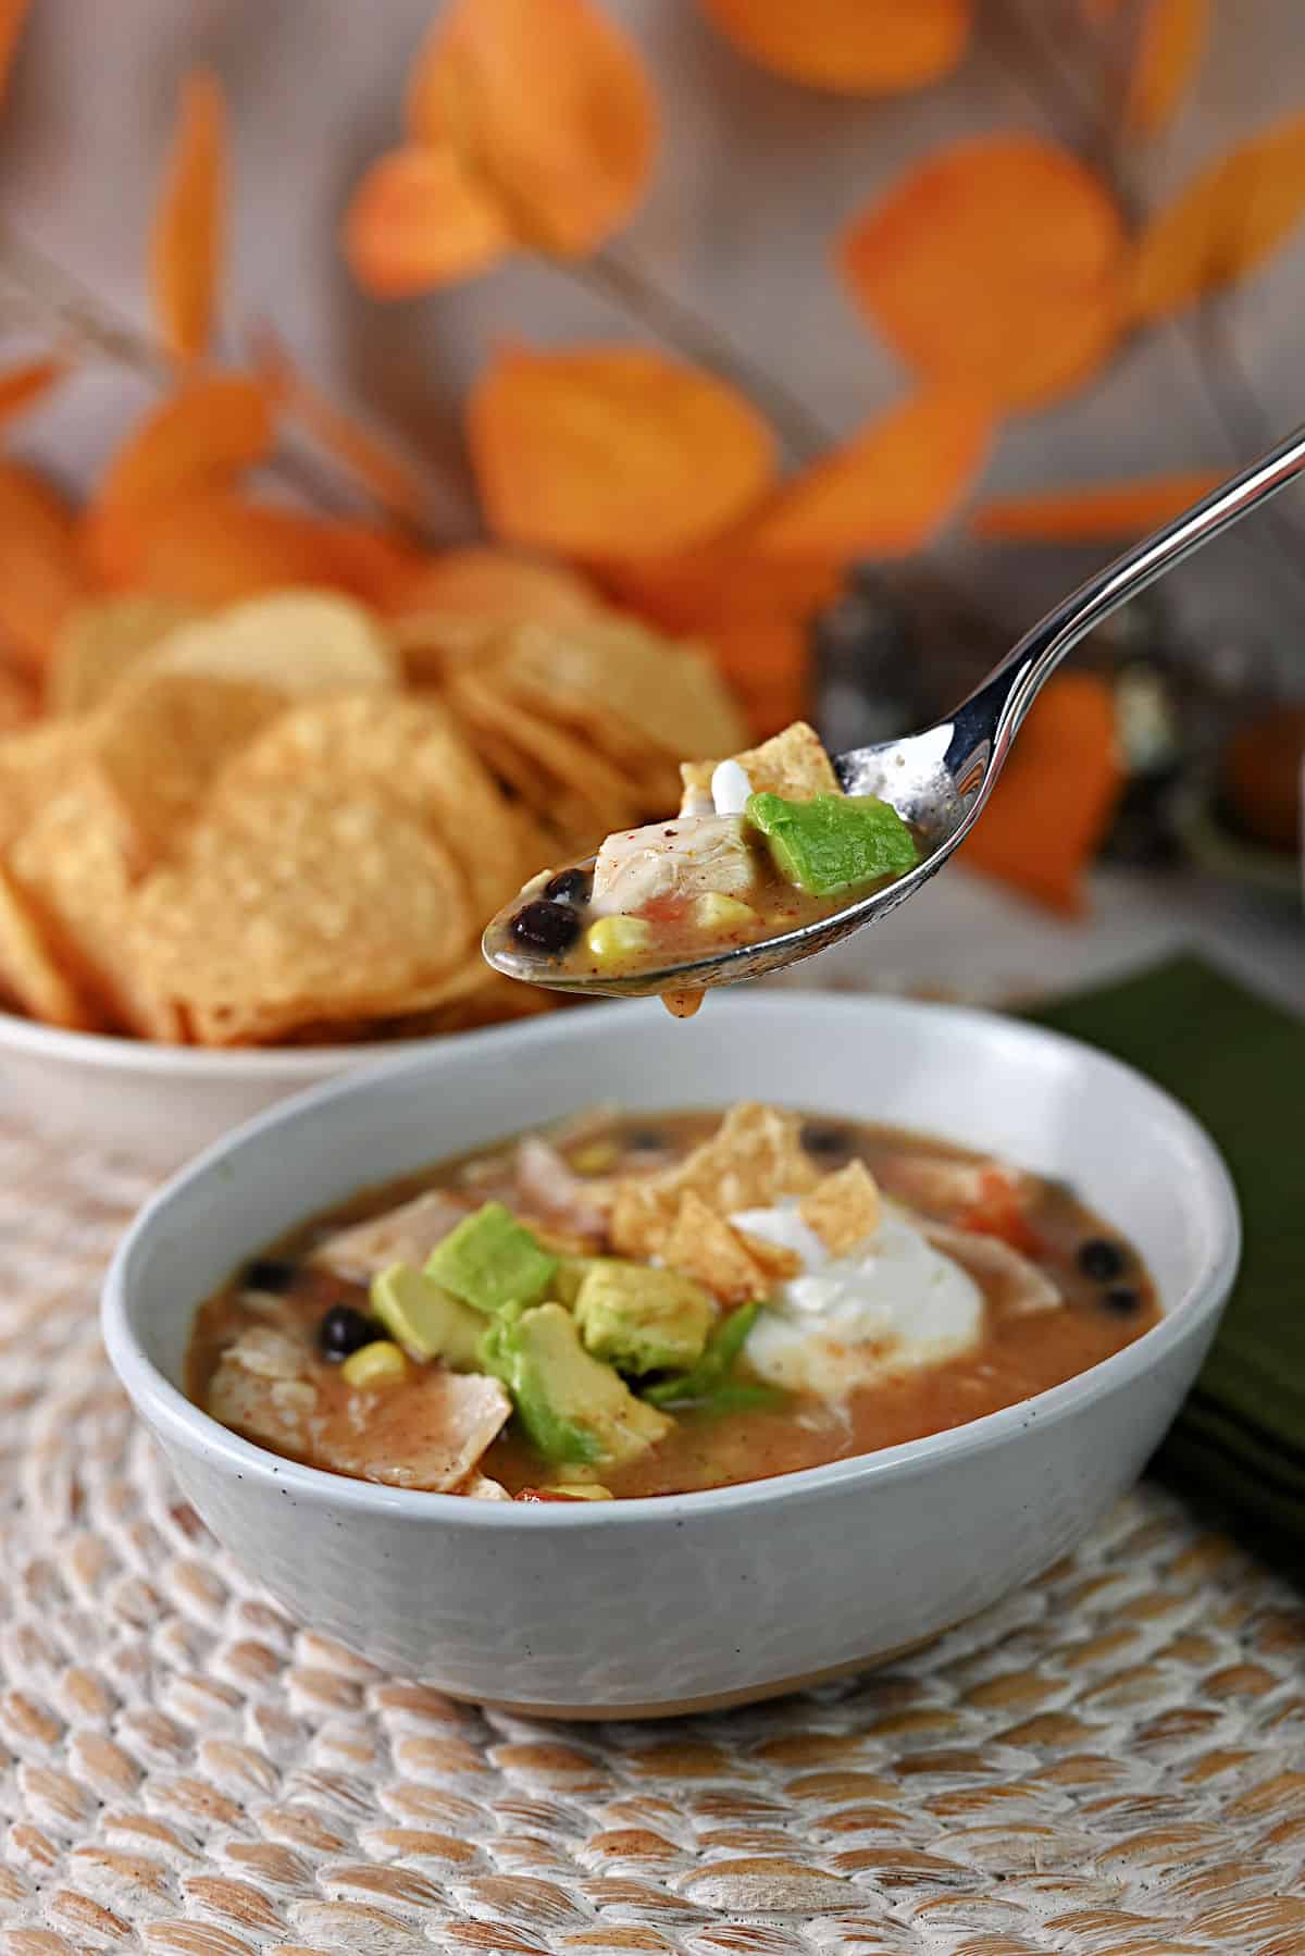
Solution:
<path fill-rule="evenodd" d="M 391 796 L 462 865 L 479 923 L 530 874 L 517 816 L 438 700 L 391 692 L 305 700 L 231 759 L 213 800 L 276 780 L 337 782 Z"/>

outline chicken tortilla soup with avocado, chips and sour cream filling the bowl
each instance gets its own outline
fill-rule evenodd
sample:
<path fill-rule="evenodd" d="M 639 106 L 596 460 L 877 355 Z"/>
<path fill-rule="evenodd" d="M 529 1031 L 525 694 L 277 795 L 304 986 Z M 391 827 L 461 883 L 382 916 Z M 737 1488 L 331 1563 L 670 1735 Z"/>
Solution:
<path fill-rule="evenodd" d="M 608 1500 L 961 1426 L 1156 1318 L 1135 1250 L 1057 1181 L 757 1103 L 605 1107 L 256 1256 L 200 1309 L 188 1389 L 331 1473 Z"/>

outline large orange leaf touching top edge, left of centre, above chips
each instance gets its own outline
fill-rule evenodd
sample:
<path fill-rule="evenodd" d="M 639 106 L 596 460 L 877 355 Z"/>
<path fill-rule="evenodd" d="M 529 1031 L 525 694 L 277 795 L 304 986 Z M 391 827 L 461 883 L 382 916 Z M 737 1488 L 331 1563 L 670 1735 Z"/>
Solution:
<path fill-rule="evenodd" d="M 558 256 L 626 221 L 657 149 L 644 61 L 593 0 L 452 0 L 407 119 L 419 143 L 454 145 L 520 243 Z"/>

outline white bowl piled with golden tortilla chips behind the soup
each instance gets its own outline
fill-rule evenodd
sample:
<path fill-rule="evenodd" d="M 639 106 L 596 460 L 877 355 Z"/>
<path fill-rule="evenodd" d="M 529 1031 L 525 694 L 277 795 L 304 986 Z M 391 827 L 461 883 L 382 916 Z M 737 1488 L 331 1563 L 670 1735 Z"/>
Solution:
<path fill-rule="evenodd" d="M 485 966 L 489 915 L 742 737 L 706 653 L 597 606 L 100 599 L 0 735 L 6 1093 L 174 1158 L 395 1041 L 552 1009 Z"/>

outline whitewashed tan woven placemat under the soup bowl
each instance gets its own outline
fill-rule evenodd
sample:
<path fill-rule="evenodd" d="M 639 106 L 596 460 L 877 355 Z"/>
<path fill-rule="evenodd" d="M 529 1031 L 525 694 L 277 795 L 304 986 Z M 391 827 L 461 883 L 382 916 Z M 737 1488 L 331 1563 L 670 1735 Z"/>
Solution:
<path fill-rule="evenodd" d="M 0 1123 L 0 1948 L 1305 1952 L 1305 1612 L 1143 1489 L 849 1684 L 481 1715 L 299 1627 L 131 1418 L 96 1289 L 145 1178 Z"/>

